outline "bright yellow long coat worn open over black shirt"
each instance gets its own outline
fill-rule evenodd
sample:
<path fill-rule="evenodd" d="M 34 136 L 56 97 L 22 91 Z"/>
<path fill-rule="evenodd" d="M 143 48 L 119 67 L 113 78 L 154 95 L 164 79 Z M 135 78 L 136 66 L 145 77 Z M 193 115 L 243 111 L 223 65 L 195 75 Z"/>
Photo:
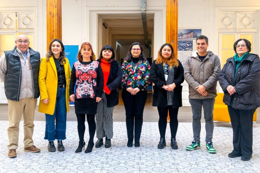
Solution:
<path fill-rule="evenodd" d="M 69 106 L 69 88 L 70 88 L 70 63 L 67 58 L 66 63 L 64 64 L 65 78 L 66 78 L 66 107 L 67 112 L 70 111 Z M 56 66 L 54 63 L 53 57 L 49 58 L 49 61 L 46 61 L 46 57 L 42 58 L 39 71 L 39 88 L 40 88 L 40 104 L 39 112 L 47 113 L 50 115 L 54 114 L 55 104 L 56 104 L 56 95 L 58 87 L 58 75 Z M 44 104 L 43 99 L 49 98 L 49 103 Z"/>

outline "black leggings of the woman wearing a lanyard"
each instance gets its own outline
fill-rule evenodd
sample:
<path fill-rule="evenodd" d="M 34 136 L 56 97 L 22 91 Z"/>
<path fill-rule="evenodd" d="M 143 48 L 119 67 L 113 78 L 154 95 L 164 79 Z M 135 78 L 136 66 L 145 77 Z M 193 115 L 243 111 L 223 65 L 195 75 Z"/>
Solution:
<path fill-rule="evenodd" d="M 161 138 L 165 138 L 165 131 L 167 127 L 167 117 L 168 117 L 168 110 L 170 116 L 170 130 L 171 130 L 171 138 L 176 137 L 177 129 L 178 129 L 178 111 L 179 108 L 172 108 L 172 105 L 167 107 L 157 107 L 159 113 L 159 131 Z"/>

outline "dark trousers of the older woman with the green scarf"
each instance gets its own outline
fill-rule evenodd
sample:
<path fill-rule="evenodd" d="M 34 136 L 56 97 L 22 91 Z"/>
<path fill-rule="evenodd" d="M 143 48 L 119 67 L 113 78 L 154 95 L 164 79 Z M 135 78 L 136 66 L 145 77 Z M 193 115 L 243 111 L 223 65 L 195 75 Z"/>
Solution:
<path fill-rule="evenodd" d="M 233 128 L 233 152 L 236 154 L 253 153 L 253 115 L 256 109 L 241 110 L 227 106 Z"/>

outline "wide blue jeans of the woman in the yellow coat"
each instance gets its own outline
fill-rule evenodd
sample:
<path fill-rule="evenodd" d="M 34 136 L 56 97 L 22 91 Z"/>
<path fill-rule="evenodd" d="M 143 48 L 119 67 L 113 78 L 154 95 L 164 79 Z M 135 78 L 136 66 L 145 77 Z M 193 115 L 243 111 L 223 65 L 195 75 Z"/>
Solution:
<path fill-rule="evenodd" d="M 66 88 L 58 88 L 56 96 L 56 104 L 54 114 L 49 115 L 45 113 L 46 125 L 44 139 L 48 141 L 64 140 L 66 139 Z M 55 126 L 56 118 L 56 126 Z"/>

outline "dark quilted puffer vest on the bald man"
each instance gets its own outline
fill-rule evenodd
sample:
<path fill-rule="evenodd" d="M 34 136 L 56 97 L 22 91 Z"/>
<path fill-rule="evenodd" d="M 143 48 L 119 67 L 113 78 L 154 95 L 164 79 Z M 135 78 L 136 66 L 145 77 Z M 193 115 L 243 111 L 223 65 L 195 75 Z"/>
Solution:
<path fill-rule="evenodd" d="M 30 63 L 33 76 L 34 98 L 38 98 L 40 96 L 38 84 L 40 53 L 33 51 L 33 49 L 30 47 L 28 51 L 30 53 Z M 6 77 L 4 81 L 6 98 L 8 100 L 19 101 L 22 71 L 20 57 L 17 54 L 16 46 L 13 51 L 5 51 L 5 56 L 7 66 Z"/>

